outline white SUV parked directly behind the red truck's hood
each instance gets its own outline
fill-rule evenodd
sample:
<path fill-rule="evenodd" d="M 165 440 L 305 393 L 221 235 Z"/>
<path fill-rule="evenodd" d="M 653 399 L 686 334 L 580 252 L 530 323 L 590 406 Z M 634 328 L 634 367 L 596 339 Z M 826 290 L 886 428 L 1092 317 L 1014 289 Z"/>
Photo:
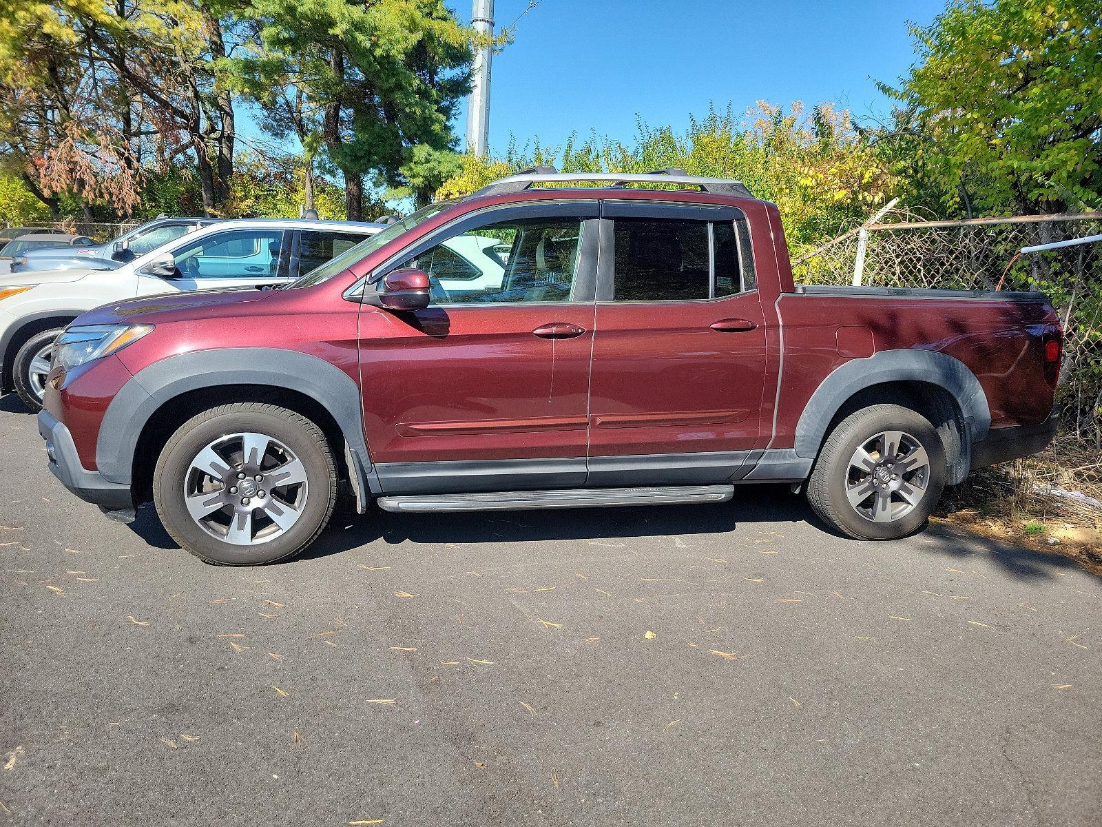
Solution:
<path fill-rule="evenodd" d="M 114 270 L 44 270 L 0 277 L 0 391 L 15 390 L 26 406 L 37 410 L 54 340 L 86 310 L 164 292 L 281 287 L 379 228 L 301 218 L 226 221 Z"/>

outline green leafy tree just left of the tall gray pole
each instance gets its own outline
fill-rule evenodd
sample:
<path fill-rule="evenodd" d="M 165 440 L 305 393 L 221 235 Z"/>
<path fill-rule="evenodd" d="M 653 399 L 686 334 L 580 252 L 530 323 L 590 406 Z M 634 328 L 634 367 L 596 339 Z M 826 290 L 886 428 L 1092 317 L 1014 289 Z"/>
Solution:
<path fill-rule="evenodd" d="M 246 15 L 260 49 L 230 62 L 239 87 L 273 133 L 290 127 L 307 154 L 324 147 L 349 218 L 363 216 L 365 175 L 426 201 L 456 168 L 450 121 L 476 35 L 443 0 L 251 0 Z"/>

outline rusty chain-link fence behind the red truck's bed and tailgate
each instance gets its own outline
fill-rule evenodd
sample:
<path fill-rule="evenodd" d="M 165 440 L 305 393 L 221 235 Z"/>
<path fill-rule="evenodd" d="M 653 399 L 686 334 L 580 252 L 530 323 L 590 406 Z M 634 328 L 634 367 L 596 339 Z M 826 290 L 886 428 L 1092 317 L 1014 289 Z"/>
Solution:
<path fill-rule="evenodd" d="M 1040 290 L 1065 329 L 1057 402 L 1060 462 L 1045 484 L 1102 492 L 1102 240 L 1020 253 L 1102 234 L 1102 213 L 856 227 L 793 258 L 797 283 L 959 290 Z"/>

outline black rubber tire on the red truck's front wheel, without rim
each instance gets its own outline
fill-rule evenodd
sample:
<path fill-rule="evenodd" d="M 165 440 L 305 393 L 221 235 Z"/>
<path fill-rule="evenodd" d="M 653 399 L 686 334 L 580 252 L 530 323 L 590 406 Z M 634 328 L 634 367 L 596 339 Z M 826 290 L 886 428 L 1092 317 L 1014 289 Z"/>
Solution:
<path fill-rule="evenodd" d="M 213 536 L 193 519 L 184 495 L 192 462 L 199 452 L 222 438 L 242 432 L 262 434 L 290 449 L 302 463 L 306 481 L 305 502 L 296 522 L 279 536 L 255 545 L 235 545 Z M 262 402 L 223 405 L 192 417 L 165 443 L 153 471 L 153 503 L 165 530 L 196 557 L 224 566 L 258 566 L 298 554 L 324 530 L 336 494 L 336 463 L 321 429 L 294 411 Z"/>

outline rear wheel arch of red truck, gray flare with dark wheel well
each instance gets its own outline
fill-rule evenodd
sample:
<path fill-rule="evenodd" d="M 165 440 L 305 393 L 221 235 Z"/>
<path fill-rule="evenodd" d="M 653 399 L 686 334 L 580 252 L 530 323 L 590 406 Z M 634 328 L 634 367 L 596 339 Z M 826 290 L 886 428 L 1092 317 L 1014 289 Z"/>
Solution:
<path fill-rule="evenodd" d="M 946 449 L 950 484 L 968 474 L 971 445 L 991 427 L 987 397 L 964 363 L 937 351 L 882 351 L 851 359 L 823 379 L 797 423 L 797 455 L 813 459 L 838 422 L 877 402 L 904 405 L 931 421 Z"/>

